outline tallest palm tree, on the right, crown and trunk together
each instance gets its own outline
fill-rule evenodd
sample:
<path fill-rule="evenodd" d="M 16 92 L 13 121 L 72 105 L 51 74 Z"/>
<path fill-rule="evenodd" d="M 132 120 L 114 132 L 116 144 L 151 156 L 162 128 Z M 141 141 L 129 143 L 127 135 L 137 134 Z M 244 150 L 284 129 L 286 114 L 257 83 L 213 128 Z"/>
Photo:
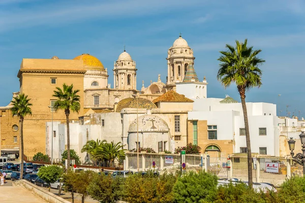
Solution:
<path fill-rule="evenodd" d="M 261 86 L 262 71 L 258 68 L 265 60 L 257 55 L 261 50 L 253 50 L 253 47 L 247 47 L 247 39 L 244 43 L 235 41 L 235 47 L 226 44 L 227 51 L 220 51 L 222 54 L 218 60 L 220 61 L 220 69 L 217 74 L 218 80 L 226 88 L 231 83 L 235 83 L 241 99 L 243 119 L 246 129 L 246 143 L 248 152 L 248 178 L 249 186 L 252 188 L 252 156 L 251 143 L 249 133 L 248 114 L 246 107 L 246 90 L 253 87 Z"/>

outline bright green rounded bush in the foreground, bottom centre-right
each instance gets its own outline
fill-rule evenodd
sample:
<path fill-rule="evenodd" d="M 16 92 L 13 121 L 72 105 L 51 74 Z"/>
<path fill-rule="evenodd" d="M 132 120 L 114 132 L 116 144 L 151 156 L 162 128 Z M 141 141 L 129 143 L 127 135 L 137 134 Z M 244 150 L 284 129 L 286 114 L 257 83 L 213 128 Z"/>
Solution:
<path fill-rule="evenodd" d="M 174 198 L 177 203 L 213 202 L 217 192 L 217 176 L 200 171 L 178 178 L 174 185 Z"/>

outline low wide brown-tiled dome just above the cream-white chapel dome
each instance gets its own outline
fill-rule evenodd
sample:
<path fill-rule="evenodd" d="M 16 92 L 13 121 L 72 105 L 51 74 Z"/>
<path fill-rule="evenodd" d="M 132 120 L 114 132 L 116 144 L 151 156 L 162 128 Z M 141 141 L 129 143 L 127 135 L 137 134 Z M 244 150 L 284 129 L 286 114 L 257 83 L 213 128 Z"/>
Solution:
<path fill-rule="evenodd" d="M 138 108 L 139 109 L 157 109 L 157 106 L 146 98 L 125 98 L 117 103 L 115 112 L 120 112 L 125 108 Z"/>

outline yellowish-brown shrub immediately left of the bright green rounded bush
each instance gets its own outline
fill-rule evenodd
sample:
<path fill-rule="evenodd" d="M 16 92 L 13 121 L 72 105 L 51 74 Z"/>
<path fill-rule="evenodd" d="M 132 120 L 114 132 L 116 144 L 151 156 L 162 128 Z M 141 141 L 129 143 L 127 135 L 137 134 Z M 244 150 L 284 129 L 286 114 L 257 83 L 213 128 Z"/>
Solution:
<path fill-rule="evenodd" d="M 153 171 L 135 174 L 126 178 L 124 200 L 128 202 L 173 202 L 173 185 L 176 176 L 164 173 L 160 177 Z"/>

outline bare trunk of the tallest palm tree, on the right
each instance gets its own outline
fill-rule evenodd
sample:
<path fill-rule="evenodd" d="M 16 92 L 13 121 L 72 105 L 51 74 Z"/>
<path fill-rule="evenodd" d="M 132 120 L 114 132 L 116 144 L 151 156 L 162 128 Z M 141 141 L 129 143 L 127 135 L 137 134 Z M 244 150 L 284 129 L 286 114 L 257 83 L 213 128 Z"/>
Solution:
<path fill-rule="evenodd" d="M 250 142 L 250 132 L 249 132 L 249 122 L 248 122 L 248 113 L 247 113 L 245 92 L 240 93 L 240 98 L 241 98 L 241 106 L 242 106 L 242 111 L 243 111 L 243 120 L 245 121 L 245 129 L 246 129 L 246 144 L 247 144 L 247 155 L 248 155 L 248 182 L 249 182 L 249 187 L 252 188 L 252 185 L 253 185 L 252 155 L 251 155 L 251 142 Z"/>

